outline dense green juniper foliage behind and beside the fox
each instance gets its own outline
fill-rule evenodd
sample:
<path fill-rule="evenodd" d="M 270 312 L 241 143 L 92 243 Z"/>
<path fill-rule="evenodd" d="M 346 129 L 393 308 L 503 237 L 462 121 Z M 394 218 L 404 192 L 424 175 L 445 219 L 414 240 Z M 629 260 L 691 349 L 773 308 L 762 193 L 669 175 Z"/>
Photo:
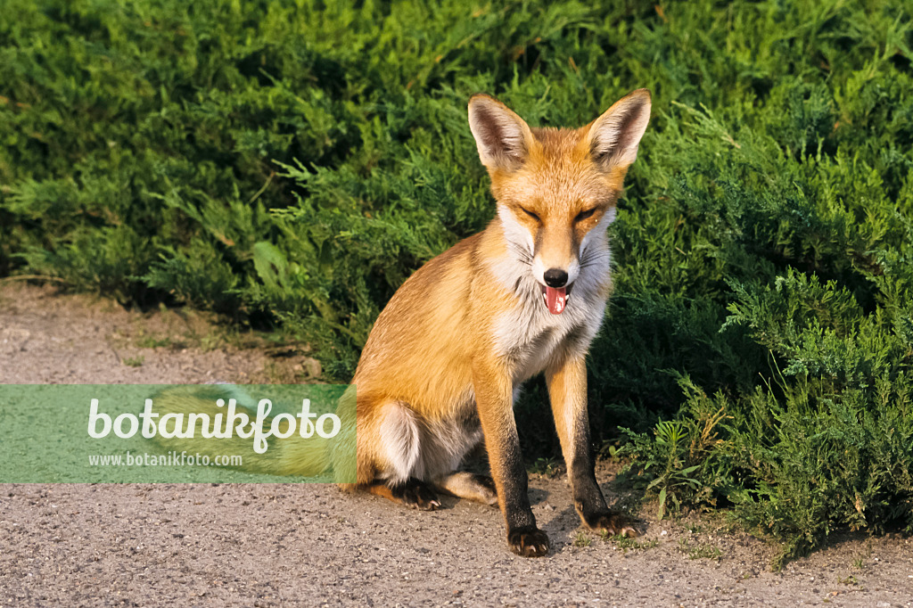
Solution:
<path fill-rule="evenodd" d="M 661 516 L 730 505 L 784 556 L 837 526 L 913 531 L 900 0 L 4 8 L 0 274 L 269 320 L 339 380 L 404 278 L 494 214 L 470 94 L 579 125 L 651 89 L 594 435 L 632 429 Z"/>

